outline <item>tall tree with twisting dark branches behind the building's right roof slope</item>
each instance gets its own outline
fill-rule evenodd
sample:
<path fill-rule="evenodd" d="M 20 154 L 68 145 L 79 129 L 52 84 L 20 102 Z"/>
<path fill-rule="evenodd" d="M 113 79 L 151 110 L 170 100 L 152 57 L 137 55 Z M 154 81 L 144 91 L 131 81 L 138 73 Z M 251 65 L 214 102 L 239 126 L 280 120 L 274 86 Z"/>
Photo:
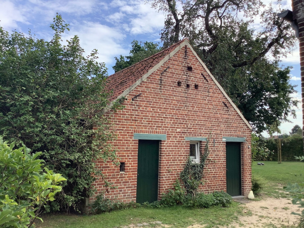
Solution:
<path fill-rule="evenodd" d="M 278 60 L 291 51 L 295 36 L 290 25 L 278 19 L 278 12 L 266 8 L 259 0 L 147 2 L 167 14 L 161 33 L 164 47 L 188 38 L 257 132 L 294 115 L 292 106 L 297 101 L 291 97 L 295 89 L 289 83 L 289 68 L 280 69 Z M 266 10 L 260 12 L 260 9 Z M 263 31 L 249 29 L 257 16 L 261 16 Z M 274 61 L 267 55 L 272 55 Z M 270 92 L 271 88 L 275 92 Z M 263 97 L 262 102 L 255 97 Z M 282 101 L 274 104 L 274 97 Z"/>

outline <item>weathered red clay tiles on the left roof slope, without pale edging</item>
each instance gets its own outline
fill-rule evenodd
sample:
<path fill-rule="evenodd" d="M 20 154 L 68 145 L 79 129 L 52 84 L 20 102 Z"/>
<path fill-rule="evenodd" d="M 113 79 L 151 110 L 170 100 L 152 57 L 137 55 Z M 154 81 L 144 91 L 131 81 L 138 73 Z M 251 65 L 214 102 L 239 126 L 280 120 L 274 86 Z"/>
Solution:
<path fill-rule="evenodd" d="M 186 40 L 186 39 L 184 39 Z M 146 74 L 151 68 L 153 68 L 157 63 L 159 63 L 165 56 L 170 54 L 179 44 L 173 44 L 171 47 L 164 49 L 140 62 L 133 64 L 115 74 L 110 75 L 107 78 L 107 91 L 113 91 L 110 101 L 115 100 L 119 95 L 121 95 L 127 88 L 132 86 L 137 80 L 139 80 L 144 74 Z"/>

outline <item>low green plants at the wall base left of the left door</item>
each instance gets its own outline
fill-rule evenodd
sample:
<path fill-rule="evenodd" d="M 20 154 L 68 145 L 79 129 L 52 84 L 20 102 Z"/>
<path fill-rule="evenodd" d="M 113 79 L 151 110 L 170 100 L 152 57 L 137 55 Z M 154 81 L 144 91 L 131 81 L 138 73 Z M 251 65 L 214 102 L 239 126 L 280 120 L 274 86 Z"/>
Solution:
<path fill-rule="evenodd" d="M 105 198 L 103 194 L 98 195 L 94 203 L 90 205 L 92 207 L 92 213 L 100 214 L 105 212 L 111 212 L 121 209 L 130 209 L 140 207 L 140 204 L 136 202 L 124 203 L 119 200 L 112 200 Z"/>

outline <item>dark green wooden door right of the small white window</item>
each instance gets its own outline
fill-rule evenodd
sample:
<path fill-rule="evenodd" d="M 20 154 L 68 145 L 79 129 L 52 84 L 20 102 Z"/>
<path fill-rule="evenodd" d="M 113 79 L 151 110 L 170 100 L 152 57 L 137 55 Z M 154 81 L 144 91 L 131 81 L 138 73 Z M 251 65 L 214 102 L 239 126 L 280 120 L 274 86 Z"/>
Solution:
<path fill-rule="evenodd" d="M 226 181 L 227 193 L 241 195 L 241 144 L 226 143 Z"/>

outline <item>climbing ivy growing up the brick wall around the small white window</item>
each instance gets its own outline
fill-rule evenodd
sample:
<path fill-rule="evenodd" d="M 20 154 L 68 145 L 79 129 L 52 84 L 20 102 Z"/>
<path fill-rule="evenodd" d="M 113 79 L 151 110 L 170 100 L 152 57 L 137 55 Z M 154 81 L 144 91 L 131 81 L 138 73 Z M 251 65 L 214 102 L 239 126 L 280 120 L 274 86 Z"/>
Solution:
<path fill-rule="evenodd" d="M 181 171 L 180 177 L 183 181 L 187 194 L 195 195 L 199 185 L 204 184 L 202 180 L 203 177 L 203 169 L 205 167 L 205 163 L 207 157 L 209 156 L 209 140 L 207 138 L 204 154 L 202 154 L 201 150 L 199 151 L 200 163 L 195 163 L 192 161 L 190 156 L 188 157 L 185 168 Z"/>

